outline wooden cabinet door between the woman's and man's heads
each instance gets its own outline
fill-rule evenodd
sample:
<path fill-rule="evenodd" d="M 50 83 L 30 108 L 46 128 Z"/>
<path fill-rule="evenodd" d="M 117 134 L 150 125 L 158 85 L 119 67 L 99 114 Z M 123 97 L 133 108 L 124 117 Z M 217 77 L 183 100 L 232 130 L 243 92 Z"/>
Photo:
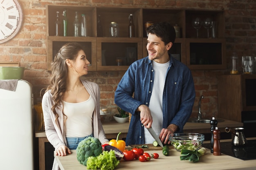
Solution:
<path fill-rule="evenodd" d="M 141 38 L 97 38 L 97 70 L 126 71 L 142 58 Z"/>

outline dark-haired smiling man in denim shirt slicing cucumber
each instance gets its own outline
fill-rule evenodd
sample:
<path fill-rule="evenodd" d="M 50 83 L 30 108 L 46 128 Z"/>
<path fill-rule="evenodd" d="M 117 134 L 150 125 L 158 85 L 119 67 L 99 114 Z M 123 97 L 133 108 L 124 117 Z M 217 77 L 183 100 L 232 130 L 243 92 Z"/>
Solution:
<path fill-rule="evenodd" d="M 146 31 L 148 56 L 130 65 L 115 92 L 115 103 L 132 114 L 127 145 L 152 144 L 155 139 L 146 130 L 151 126 L 170 144 L 168 136 L 183 131 L 195 101 L 191 71 L 168 53 L 175 41 L 173 26 L 161 22 Z"/>

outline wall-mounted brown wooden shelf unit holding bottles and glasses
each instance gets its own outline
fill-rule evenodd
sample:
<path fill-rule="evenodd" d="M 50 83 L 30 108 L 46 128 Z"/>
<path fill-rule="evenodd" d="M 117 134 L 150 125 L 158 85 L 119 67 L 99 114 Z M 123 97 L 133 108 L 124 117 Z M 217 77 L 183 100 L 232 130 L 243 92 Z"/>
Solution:
<path fill-rule="evenodd" d="M 67 10 L 68 36 L 54 36 L 56 11 L 59 11 L 60 20 L 62 20 L 62 12 L 65 9 Z M 76 11 L 79 13 L 79 20 L 82 13 L 86 16 L 88 37 L 72 36 L 72 21 Z M 135 25 L 134 38 L 128 38 L 128 16 L 130 14 L 133 15 Z M 99 15 L 102 33 L 97 31 Z M 203 26 L 199 29 L 199 38 L 196 38 L 196 29 L 192 26 L 192 20 L 195 17 L 200 17 L 202 20 L 209 17 L 215 21 L 216 38 L 207 38 L 207 29 Z M 84 46 L 85 54 L 92 64 L 90 71 L 126 71 L 131 62 L 148 56 L 144 26 L 148 21 L 153 23 L 166 21 L 173 26 L 177 24 L 180 27 L 181 38 L 176 38 L 170 53 L 191 70 L 225 69 L 227 67 L 223 11 L 47 5 L 48 69 L 51 69 L 51 62 L 60 47 L 66 42 L 74 41 Z M 119 37 L 110 37 L 110 22 L 118 23 Z M 131 53 L 136 53 L 136 55 L 131 56 Z M 122 60 L 121 65 L 117 64 L 117 59 Z"/>

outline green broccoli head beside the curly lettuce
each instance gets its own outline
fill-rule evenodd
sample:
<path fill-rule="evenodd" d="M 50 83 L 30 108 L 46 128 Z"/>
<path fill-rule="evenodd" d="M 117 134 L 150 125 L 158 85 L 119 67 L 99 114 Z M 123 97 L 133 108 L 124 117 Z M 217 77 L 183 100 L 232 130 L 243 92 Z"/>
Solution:
<path fill-rule="evenodd" d="M 85 138 L 76 148 L 76 158 L 84 166 L 87 164 L 88 157 L 97 157 L 101 153 L 101 142 L 95 137 Z"/>

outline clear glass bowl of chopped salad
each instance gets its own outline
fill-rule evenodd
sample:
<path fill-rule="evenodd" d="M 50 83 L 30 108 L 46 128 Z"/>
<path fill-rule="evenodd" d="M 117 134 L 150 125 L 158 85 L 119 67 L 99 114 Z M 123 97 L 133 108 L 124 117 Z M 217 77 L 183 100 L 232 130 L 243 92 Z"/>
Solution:
<path fill-rule="evenodd" d="M 174 133 L 169 135 L 173 148 L 177 151 L 182 149 L 198 150 L 204 141 L 204 135 L 200 133 Z"/>

